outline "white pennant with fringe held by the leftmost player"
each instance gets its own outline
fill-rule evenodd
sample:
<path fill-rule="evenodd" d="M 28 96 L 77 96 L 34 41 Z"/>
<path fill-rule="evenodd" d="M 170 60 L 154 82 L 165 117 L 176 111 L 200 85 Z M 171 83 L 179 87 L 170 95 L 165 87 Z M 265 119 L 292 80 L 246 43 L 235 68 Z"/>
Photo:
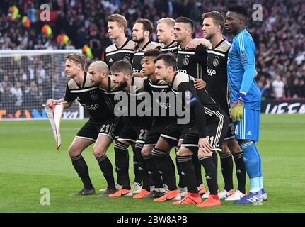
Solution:
<path fill-rule="evenodd" d="M 60 137 L 59 127 L 60 120 L 62 119 L 62 111 L 64 110 L 63 104 L 64 103 L 53 104 L 52 109 L 47 105 L 42 105 L 43 107 L 45 107 L 45 113 L 47 114 L 47 118 L 49 118 L 58 151 L 60 146 L 62 145 L 62 138 Z"/>

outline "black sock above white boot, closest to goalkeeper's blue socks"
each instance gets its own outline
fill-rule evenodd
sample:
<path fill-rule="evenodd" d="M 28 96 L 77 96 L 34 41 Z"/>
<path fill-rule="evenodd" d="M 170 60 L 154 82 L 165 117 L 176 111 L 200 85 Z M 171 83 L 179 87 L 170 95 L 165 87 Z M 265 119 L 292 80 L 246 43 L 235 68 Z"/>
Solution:
<path fill-rule="evenodd" d="M 238 182 L 237 189 L 242 193 L 246 193 L 246 168 L 245 162 L 243 161 L 243 152 L 233 154 L 236 177 Z"/>

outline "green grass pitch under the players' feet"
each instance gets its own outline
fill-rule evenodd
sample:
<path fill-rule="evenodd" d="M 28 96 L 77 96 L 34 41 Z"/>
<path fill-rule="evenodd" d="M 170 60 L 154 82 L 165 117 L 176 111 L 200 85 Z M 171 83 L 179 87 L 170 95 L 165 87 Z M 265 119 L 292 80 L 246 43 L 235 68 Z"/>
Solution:
<path fill-rule="evenodd" d="M 269 201 L 262 206 L 235 205 L 224 201 L 221 206 L 210 209 L 198 209 L 195 205 L 174 206 L 171 201 L 156 203 L 152 199 L 136 200 L 132 197 L 98 199 L 98 194 L 69 196 L 81 189 L 81 180 L 71 165 L 67 148 L 85 122 L 62 121 L 62 148 L 57 153 L 49 121 L 0 121 L 0 212 L 305 211 L 304 114 L 262 115 L 258 148 L 263 159 L 263 179 Z M 83 155 L 98 192 L 105 187 L 105 179 L 93 157 L 92 147 L 87 148 Z M 108 150 L 108 157 L 114 163 L 113 145 Z M 132 170 L 130 176 L 133 179 Z M 219 171 L 219 187 L 223 185 Z M 50 190 L 50 205 L 40 205 L 40 189 L 43 188 Z"/>

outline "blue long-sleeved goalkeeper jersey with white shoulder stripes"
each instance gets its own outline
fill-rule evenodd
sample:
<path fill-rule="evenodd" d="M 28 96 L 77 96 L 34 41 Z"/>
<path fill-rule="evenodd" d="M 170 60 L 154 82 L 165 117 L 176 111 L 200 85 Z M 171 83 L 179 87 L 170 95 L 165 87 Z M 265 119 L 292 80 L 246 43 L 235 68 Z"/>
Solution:
<path fill-rule="evenodd" d="M 238 33 L 228 54 L 228 83 L 231 104 L 238 92 L 246 94 L 243 100 L 246 109 L 260 109 L 260 89 L 255 82 L 255 44 L 246 29 Z"/>

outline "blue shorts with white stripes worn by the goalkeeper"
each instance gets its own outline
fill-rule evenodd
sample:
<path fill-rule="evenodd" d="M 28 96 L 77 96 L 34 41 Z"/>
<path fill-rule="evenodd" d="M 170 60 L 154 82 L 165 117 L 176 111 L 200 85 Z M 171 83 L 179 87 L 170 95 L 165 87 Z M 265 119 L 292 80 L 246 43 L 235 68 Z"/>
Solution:
<path fill-rule="evenodd" d="M 260 110 L 243 109 L 243 118 L 234 123 L 236 140 L 258 142 L 260 135 Z"/>

